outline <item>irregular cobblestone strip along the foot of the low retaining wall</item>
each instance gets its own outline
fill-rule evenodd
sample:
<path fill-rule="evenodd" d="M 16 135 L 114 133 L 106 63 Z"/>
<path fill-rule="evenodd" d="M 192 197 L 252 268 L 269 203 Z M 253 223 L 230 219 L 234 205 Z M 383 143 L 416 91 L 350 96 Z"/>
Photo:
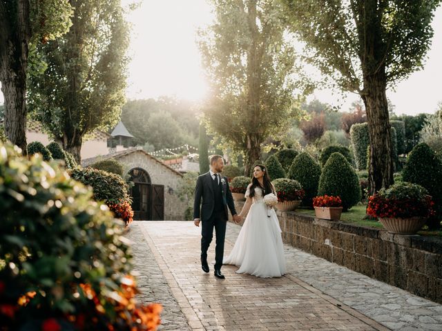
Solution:
<path fill-rule="evenodd" d="M 227 240 L 240 226 L 229 223 Z M 392 330 L 442 330 L 442 305 L 285 245 L 287 272 Z"/>

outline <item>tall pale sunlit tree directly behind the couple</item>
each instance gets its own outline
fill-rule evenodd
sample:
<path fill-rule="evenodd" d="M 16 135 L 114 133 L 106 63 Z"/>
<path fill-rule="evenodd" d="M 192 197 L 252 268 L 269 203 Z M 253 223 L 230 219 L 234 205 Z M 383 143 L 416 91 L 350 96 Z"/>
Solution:
<path fill-rule="evenodd" d="M 285 41 L 282 8 L 271 0 L 212 0 L 215 23 L 200 31 L 200 50 L 213 99 L 209 129 L 244 152 L 244 173 L 260 159 L 261 143 L 289 126 L 294 48 Z"/>

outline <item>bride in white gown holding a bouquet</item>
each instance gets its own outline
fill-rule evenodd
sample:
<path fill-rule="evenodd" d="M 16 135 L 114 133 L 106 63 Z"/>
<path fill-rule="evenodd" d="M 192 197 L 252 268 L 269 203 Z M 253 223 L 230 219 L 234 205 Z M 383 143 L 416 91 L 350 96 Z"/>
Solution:
<path fill-rule="evenodd" d="M 240 217 L 249 213 L 233 250 L 223 261 L 224 264 L 238 265 L 238 274 L 253 274 L 257 277 L 280 277 L 285 274 L 278 217 L 273 208 L 267 208 L 263 200 L 265 194 L 269 193 L 276 195 L 267 169 L 264 165 L 256 165 L 251 184 L 247 186 L 247 200 Z"/>

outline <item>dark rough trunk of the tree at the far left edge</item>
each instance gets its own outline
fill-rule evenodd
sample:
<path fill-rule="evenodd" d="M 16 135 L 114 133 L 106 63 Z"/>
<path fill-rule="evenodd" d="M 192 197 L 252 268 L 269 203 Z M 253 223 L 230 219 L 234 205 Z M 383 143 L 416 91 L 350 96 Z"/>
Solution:
<path fill-rule="evenodd" d="M 30 40 L 29 1 L 17 1 L 17 16 L 0 4 L 0 81 L 5 98 L 5 134 L 26 154 L 26 72 Z"/>

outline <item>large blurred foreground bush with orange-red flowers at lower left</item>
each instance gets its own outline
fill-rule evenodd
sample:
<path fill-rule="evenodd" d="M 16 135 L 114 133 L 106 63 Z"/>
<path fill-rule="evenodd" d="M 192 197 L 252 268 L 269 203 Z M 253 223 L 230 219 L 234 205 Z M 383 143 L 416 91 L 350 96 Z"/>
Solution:
<path fill-rule="evenodd" d="M 123 228 L 56 163 L 0 143 L 2 330 L 152 330 Z"/>

